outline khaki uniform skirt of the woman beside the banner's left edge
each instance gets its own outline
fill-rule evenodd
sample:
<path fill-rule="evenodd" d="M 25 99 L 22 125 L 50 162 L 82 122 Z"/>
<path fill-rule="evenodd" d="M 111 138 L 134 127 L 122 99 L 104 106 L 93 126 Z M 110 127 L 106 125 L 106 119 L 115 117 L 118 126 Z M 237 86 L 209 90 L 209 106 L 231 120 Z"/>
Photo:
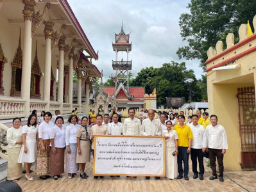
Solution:
<path fill-rule="evenodd" d="M 80 140 L 81 155 L 76 152 L 76 163 L 88 163 L 90 162 L 90 140 Z"/>

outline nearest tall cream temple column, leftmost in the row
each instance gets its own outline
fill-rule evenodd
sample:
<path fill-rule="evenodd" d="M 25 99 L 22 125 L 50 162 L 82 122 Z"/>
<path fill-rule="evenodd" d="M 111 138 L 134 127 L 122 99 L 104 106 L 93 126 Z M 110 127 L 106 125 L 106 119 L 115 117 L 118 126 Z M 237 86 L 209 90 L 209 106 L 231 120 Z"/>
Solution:
<path fill-rule="evenodd" d="M 24 113 L 28 117 L 30 115 L 30 83 L 31 83 L 31 49 L 32 36 L 31 25 L 32 15 L 35 6 L 35 1 L 23 1 L 24 10 L 22 11 L 24 17 L 24 47 L 22 59 L 22 76 L 21 76 L 21 99 L 25 99 Z"/>

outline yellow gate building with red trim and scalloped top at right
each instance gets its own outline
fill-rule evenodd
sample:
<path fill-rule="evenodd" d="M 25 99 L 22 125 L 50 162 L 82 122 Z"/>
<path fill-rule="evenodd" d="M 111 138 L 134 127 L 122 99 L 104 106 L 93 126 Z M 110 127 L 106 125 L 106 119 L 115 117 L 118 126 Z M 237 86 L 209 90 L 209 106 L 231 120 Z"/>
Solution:
<path fill-rule="evenodd" d="M 256 15 L 253 18 L 256 29 Z M 256 169 L 256 34 L 249 24 L 239 27 L 239 42 L 233 33 L 216 49 L 207 51 L 207 92 L 209 115 L 218 116 L 228 140 L 225 170 Z"/>

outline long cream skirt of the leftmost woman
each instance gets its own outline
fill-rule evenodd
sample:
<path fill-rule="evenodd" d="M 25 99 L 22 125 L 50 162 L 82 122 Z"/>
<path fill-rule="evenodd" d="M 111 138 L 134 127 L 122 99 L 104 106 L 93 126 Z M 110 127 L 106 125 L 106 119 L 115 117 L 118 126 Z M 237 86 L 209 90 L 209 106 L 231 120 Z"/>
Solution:
<path fill-rule="evenodd" d="M 8 148 L 7 180 L 19 179 L 22 175 L 22 163 L 17 163 L 21 147 Z"/>

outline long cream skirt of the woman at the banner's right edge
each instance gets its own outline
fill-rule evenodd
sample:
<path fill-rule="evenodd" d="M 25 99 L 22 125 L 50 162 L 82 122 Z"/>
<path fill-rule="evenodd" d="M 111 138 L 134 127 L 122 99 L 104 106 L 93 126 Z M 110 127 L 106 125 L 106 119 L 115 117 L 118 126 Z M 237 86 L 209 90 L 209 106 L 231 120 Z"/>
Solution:
<path fill-rule="evenodd" d="M 166 147 L 166 177 L 175 179 L 178 176 L 177 156 L 173 156 L 175 147 Z"/>

